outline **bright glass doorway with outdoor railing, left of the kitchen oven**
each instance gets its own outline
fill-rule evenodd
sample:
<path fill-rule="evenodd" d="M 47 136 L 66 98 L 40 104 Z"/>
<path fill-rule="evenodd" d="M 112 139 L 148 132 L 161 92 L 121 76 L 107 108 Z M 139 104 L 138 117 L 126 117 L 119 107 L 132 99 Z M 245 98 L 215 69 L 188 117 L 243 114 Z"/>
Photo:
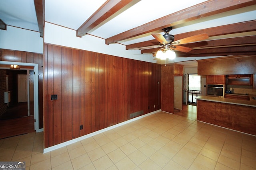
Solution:
<path fill-rule="evenodd" d="M 188 74 L 188 104 L 196 106 L 196 98 L 202 95 L 201 76 Z"/>

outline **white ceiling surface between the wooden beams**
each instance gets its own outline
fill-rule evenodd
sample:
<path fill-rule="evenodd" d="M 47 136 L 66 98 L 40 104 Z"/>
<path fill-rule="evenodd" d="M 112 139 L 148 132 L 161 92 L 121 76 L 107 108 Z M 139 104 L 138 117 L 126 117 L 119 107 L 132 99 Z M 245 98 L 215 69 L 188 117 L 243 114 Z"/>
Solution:
<path fill-rule="evenodd" d="M 105 2 L 106 0 L 44 0 L 44 19 L 46 22 L 77 30 Z M 205 0 L 134 0 L 88 33 L 107 39 L 201 2 Z M 34 0 L 0 0 L 0 19 L 10 26 L 39 31 Z M 176 35 L 250 20 L 256 20 L 256 4 L 174 25 L 170 34 Z M 155 32 L 164 33 L 161 29 Z M 256 32 L 249 32 L 246 35 L 256 35 Z M 129 45 L 152 39 L 154 38 L 151 33 L 147 33 L 118 43 Z"/>

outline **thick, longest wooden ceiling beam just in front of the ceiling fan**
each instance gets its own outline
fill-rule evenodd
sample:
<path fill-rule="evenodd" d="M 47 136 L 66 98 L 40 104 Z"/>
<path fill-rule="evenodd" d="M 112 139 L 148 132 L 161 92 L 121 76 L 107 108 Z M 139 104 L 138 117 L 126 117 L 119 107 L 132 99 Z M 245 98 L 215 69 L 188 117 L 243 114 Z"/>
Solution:
<path fill-rule="evenodd" d="M 148 22 L 118 35 L 109 37 L 106 39 L 106 44 L 122 41 L 124 39 L 150 33 L 162 28 L 196 20 L 198 18 L 211 16 L 214 14 L 219 14 L 222 12 L 227 12 L 230 10 L 235 10 L 238 8 L 243 8 L 246 6 L 251 6 L 254 4 L 256 4 L 256 0 L 208 0 L 195 6 L 164 16 L 157 20 Z"/>

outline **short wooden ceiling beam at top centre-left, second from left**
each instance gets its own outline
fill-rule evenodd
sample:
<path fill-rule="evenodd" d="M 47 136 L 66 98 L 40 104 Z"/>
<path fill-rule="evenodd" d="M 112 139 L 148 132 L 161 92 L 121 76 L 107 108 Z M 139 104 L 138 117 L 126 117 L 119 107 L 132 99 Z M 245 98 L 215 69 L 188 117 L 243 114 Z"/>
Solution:
<path fill-rule="evenodd" d="M 108 19 L 118 12 L 121 8 L 132 2 L 132 0 L 107 0 L 87 21 L 85 21 L 77 30 L 76 36 L 82 37 L 94 27 Z"/>

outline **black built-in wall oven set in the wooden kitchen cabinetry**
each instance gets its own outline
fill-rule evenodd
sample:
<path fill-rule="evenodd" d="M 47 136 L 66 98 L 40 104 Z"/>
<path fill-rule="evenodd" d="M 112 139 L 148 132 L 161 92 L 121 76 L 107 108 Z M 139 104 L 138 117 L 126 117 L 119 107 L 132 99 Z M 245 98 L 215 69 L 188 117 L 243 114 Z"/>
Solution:
<path fill-rule="evenodd" d="M 224 98 L 224 95 L 225 95 L 224 84 L 207 84 L 206 96 Z"/>

